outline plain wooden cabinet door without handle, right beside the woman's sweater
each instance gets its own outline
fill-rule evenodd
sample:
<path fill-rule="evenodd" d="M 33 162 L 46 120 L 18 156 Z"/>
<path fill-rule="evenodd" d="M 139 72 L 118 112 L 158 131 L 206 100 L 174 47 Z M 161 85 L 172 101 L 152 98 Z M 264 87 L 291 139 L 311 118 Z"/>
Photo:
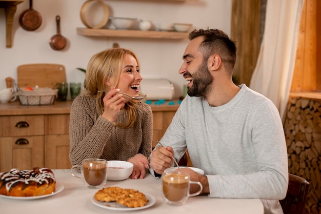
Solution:
<path fill-rule="evenodd" d="M 45 166 L 50 169 L 70 169 L 69 134 L 45 135 Z"/>

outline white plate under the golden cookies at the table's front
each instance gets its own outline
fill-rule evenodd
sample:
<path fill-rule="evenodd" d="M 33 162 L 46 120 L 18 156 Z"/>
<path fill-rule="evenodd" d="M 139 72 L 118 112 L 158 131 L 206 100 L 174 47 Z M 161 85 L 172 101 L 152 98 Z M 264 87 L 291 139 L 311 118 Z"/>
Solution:
<path fill-rule="evenodd" d="M 145 206 L 142 206 L 142 207 L 127 207 L 127 206 L 118 204 L 117 202 L 101 202 L 101 201 L 97 201 L 95 197 L 91 198 L 91 202 L 98 207 L 102 207 L 105 209 L 119 210 L 119 211 L 132 211 L 132 210 L 146 209 L 148 207 L 153 206 L 156 203 L 156 199 L 151 194 L 147 194 L 147 193 L 144 193 L 144 194 L 148 202 Z"/>

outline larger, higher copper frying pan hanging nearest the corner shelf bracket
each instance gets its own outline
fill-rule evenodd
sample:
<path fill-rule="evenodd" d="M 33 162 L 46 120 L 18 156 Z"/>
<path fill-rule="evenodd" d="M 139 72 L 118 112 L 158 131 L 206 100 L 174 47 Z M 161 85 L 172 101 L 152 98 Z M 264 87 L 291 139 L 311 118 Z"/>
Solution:
<path fill-rule="evenodd" d="M 29 1 L 30 7 L 25 10 L 19 17 L 20 26 L 28 31 L 33 31 L 41 26 L 41 15 L 32 9 L 32 0 Z"/>

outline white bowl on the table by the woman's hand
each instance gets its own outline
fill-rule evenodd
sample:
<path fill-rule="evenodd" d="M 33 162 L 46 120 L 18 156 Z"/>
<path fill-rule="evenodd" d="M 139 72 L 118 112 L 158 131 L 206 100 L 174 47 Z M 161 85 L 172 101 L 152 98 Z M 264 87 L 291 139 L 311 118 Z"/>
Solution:
<path fill-rule="evenodd" d="M 133 172 L 134 164 L 127 161 L 108 161 L 108 181 L 122 181 Z"/>

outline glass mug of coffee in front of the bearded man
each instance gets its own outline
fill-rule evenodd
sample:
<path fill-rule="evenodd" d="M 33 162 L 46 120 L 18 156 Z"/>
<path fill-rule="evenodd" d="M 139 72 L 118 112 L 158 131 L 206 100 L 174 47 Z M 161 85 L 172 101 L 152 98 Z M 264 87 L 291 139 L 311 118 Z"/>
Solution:
<path fill-rule="evenodd" d="M 197 184 L 200 189 L 190 194 L 190 185 Z M 166 204 L 180 206 L 184 205 L 188 197 L 198 196 L 203 186 L 198 181 L 191 181 L 187 173 L 180 171 L 164 172 L 162 175 L 163 199 Z"/>

